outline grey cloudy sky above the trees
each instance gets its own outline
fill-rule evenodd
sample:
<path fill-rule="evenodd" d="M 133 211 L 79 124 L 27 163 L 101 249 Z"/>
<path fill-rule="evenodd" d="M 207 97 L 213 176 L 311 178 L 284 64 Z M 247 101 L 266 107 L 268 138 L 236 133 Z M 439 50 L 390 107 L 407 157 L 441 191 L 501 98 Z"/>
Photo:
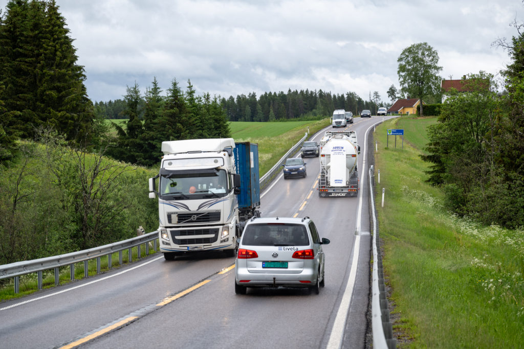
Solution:
<path fill-rule="evenodd" d="M 441 76 L 498 74 L 521 0 L 56 0 L 95 101 L 141 91 L 156 76 L 229 97 L 322 89 L 364 99 L 397 88 L 397 59 L 428 42 Z M 7 0 L 0 0 L 5 8 Z"/>

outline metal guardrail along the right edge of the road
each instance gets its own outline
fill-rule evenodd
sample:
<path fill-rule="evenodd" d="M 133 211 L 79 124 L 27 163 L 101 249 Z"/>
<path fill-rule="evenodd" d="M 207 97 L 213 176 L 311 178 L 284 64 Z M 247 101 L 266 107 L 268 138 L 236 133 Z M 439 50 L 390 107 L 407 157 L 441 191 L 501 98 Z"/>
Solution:
<path fill-rule="evenodd" d="M 373 281 L 372 281 L 372 331 L 373 347 L 394 349 L 397 341 L 393 338 L 393 330 L 389 321 L 388 300 L 386 297 L 386 284 L 384 283 L 384 270 L 382 256 L 378 252 L 378 223 L 375 214 L 374 166 L 369 167 L 369 206 L 372 209 L 373 219 Z"/>

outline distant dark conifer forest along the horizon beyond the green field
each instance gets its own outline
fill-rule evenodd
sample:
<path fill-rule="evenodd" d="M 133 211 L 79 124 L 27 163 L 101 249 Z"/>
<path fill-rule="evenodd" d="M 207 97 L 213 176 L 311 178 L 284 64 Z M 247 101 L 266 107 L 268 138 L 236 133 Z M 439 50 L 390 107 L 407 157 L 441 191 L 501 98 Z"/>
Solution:
<path fill-rule="evenodd" d="M 255 92 L 247 96 L 237 95 L 236 98 L 220 98 L 220 106 L 224 110 L 228 121 L 278 121 L 293 119 L 317 119 L 333 114 L 335 109 L 345 109 L 358 115 L 363 109 L 375 110 L 377 103 L 373 100 L 364 100 L 354 92 L 345 94 L 331 94 L 309 89 L 288 89 L 284 92 L 266 92 L 257 98 Z M 142 99 L 140 104 L 145 105 Z M 380 104 L 380 103 L 378 103 Z M 380 104 L 381 105 L 381 104 Z M 128 119 L 127 105 L 123 99 L 95 102 L 95 111 L 104 119 Z M 140 108 L 139 110 L 144 110 Z M 139 115 L 143 118 L 143 112 Z"/>

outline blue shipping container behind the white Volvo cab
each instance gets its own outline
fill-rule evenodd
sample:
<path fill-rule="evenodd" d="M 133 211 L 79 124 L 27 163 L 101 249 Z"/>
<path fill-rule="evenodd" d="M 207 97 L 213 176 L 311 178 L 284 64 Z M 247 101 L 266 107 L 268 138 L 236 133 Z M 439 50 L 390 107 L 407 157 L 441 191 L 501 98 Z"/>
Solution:
<path fill-rule="evenodd" d="M 238 208 L 260 206 L 260 182 L 258 175 L 258 144 L 235 142 L 236 173 L 240 175 Z"/>

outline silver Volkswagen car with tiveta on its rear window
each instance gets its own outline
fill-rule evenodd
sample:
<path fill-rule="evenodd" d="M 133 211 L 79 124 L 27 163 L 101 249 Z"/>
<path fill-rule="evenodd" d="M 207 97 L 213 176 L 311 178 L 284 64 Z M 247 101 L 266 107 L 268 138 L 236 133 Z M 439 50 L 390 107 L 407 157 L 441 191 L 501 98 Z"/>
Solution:
<path fill-rule="evenodd" d="M 235 262 L 235 293 L 247 287 L 324 286 L 325 256 L 315 224 L 304 218 L 252 218 L 244 228 Z"/>

